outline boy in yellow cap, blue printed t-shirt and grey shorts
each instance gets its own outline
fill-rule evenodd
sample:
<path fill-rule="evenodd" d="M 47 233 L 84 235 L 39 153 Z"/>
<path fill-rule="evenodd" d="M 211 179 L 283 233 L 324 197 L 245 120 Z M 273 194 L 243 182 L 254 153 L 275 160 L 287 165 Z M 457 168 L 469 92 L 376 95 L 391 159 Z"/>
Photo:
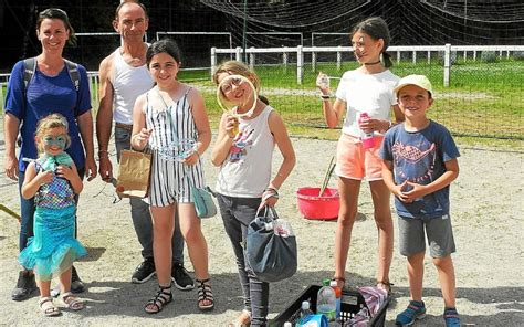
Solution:
<path fill-rule="evenodd" d="M 433 103 L 432 87 L 423 75 L 401 78 L 394 89 L 406 116 L 385 136 L 380 157 L 382 178 L 395 196 L 399 215 L 399 250 L 408 257 L 411 299 L 397 315 L 397 326 L 426 316 L 422 302 L 425 232 L 439 274 L 446 326 L 460 326 L 455 309 L 455 252 L 449 214 L 449 186 L 459 176 L 459 150 L 449 130 L 426 116 Z"/>

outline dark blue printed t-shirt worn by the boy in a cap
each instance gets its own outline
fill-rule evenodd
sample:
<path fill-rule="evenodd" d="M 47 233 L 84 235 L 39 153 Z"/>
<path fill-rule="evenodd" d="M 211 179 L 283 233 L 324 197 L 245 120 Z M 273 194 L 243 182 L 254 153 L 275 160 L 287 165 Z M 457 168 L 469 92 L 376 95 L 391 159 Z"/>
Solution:
<path fill-rule="evenodd" d="M 446 172 L 444 162 L 460 156 L 449 130 L 430 122 L 419 131 L 406 131 L 404 124 L 388 130 L 380 149 L 384 160 L 392 161 L 396 184 L 405 180 L 429 184 Z M 411 203 L 395 198 L 397 213 L 405 218 L 439 218 L 449 214 L 449 186 Z"/>

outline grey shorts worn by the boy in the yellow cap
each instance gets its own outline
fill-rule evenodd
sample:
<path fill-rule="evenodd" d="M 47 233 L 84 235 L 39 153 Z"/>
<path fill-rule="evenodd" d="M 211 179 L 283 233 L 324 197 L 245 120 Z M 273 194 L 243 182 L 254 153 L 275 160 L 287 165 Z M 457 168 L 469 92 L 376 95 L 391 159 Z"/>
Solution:
<path fill-rule="evenodd" d="M 429 253 L 432 257 L 444 257 L 455 252 L 453 231 L 449 214 L 440 218 L 398 218 L 398 246 L 400 254 L 411 256 L 426 251 L 428 238 Z"/>

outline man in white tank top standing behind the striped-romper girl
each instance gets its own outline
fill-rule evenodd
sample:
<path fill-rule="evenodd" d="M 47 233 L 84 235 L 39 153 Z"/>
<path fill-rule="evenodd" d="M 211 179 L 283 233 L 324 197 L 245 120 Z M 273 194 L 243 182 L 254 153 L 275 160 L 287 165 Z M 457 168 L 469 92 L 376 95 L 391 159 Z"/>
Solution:
<path fill-rule="evenodd" d="M 96 137 L 101 178 L 113 180 L 113 164 L 108 146 L 113 119 L 115 120 L 115 146 L 117 158 L 123 149 L 130 147 L 133 107 L 138 95 L 153 87 L 153 78 L 146 66 L 147 43 L 144 35 L 148 28 L 146 8 L 142 3 L 120 3 L 115 12 L 113 28 L 120 34 L 122 46 L 106 56 L 99 66 L 99 107 L 96 115 Z M 153 224 L 149 205 L 140 199 L 130 199 L 132 218 L 138 241 L 143 246 L 140 263 L 132 276 L 133 283 L 145 283 L 155 274 L 153 259 Z M 192 289 L 193 281 L 184 268 L 184 238 L 176 225 L 172 235 L 172 270 L 175 286 Z"/>

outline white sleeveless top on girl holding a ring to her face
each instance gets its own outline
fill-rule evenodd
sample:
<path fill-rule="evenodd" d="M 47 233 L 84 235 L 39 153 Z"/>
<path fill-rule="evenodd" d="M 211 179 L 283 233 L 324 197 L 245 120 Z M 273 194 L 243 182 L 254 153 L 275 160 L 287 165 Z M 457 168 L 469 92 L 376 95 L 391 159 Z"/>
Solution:
<path fill-rule="evenodd" d="M 254 119 L 239 119 L 240 133 L 222 162 L 217 191 L 228 197 L 260 198 L 271 180 L 275 141 L 268 118 L 273 110 L 266 106 Z"/>

